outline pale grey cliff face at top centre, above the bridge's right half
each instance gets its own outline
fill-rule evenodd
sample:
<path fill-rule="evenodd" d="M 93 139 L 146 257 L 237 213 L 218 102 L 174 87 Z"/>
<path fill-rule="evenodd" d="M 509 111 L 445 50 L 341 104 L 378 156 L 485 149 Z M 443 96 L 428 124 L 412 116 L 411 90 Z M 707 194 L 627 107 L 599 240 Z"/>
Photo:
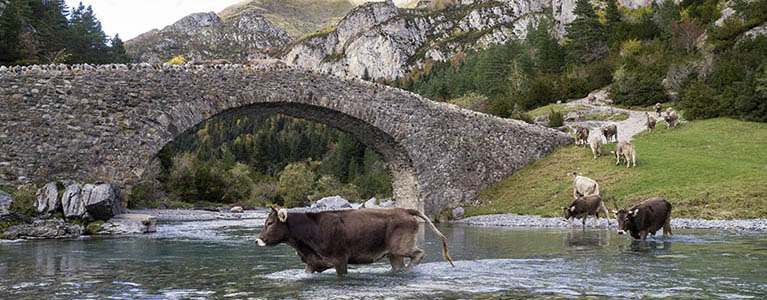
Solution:
<path fill-rule="evenodd" d="M 426 59 L 524 38 L 544 17 L 540 0 L 463 0 L 439 11 L 389 0 L 353 9 L 338 25 L 293 43 L 283 59 L 336 75 L 394 79 Z"/>

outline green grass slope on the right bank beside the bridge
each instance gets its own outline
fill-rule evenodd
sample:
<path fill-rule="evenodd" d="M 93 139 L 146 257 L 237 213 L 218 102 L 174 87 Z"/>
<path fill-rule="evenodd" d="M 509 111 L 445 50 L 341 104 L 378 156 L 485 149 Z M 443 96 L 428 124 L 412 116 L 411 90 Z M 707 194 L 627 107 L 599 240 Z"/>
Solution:
<path fill-rule="evenodd" d="M 663 196 L 673 217 L 767 218 L 767 124 L 710 119 L 634 138 L 637 167 L 615 166 L 605 145 L 594 160 L 588 148 L 567 146 L 482 191 L 468 215 L 493 213 L 559 216 L 572 202 L 576 171 L 593 178 L 608 209 Z"/>

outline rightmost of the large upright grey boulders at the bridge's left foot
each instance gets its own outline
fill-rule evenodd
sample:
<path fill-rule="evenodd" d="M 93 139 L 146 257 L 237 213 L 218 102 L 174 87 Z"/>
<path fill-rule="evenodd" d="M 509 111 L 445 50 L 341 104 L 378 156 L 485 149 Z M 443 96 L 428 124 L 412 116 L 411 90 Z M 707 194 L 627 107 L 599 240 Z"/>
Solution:
<path fill-rule="evenodd" d="M 122 213 L 120 190 L 112 184 L 86 184 L 82 198 L 86 211 L 96 220 L 106 221 Z"/>

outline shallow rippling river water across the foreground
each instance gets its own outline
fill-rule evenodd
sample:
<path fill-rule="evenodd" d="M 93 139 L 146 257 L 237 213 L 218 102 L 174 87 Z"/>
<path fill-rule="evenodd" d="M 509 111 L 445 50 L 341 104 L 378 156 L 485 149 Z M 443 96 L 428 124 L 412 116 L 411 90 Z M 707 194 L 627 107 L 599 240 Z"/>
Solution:
<path fill-rule="evenodd" d="M 632 241 L 604 229 L 442 225 L 423 263 L 383 260 L 306 275 L 285 245 L 256 247 L 263 219 L 160 224 L 151 235 L 0 244 L 0 299 L 767 297 L 767 236 L 675 230 Z M 423 228 L 422 228 L 423 229 Z"/>

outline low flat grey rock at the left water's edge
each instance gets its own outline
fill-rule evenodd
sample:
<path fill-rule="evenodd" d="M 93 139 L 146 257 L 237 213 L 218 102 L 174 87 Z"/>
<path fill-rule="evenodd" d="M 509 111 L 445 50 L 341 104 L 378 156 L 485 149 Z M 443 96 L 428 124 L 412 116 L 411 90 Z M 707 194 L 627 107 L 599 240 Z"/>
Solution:
<path fill-rule="evenodd" d="M 83 227 L 60 219 L 38 220 L 16 225 L 3 232 L 7 239 L 67 239 L 83 234 Z"/>

